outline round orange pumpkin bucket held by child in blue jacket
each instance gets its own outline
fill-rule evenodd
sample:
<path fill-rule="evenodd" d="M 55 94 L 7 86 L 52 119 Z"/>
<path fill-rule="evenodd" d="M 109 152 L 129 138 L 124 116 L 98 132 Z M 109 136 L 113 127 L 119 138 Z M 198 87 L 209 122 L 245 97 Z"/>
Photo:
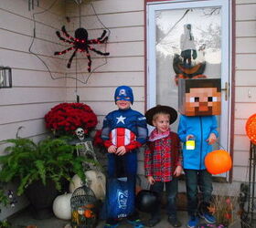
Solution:
<path fill-rule="evenodd" d="M 220 174 L 231 169 L 232 161 L 226 150 L 214 150 L 206 156 L 205 165 L 209 173 Z"/>

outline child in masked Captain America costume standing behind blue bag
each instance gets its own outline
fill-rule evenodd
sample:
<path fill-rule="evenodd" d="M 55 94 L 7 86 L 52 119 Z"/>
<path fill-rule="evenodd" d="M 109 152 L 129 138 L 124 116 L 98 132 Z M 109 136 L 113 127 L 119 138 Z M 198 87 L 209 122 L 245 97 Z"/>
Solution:
<path fill-rule="evenodd" d="M 118 109 L 110 112 L 103 120 L 101 138 L 108 150 L 108 178 L 128 177 L 133 183 L 137 174 L 137 149 L 147 139 L 146 119 L 143 114 L 131 109 L 133 105 L 133 90 L 127 86 L 116 88 L 115 104 Z M 105 228 L 117 227 L 118 218 L 113 218 L 107 212 Z M 135 228 L 142 228 L 144 224 L 137 212 L 127 216 L 128 223 Z"/>

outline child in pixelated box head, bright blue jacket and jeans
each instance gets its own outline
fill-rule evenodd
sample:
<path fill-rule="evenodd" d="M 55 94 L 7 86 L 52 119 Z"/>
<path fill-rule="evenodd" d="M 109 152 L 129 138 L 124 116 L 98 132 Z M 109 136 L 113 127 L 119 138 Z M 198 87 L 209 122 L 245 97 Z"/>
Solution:
<path fill-rule="evenodd" d="M 220 114 L 220 79 L 179 79 L 178 135 L 183 145 L 183 169 L 186 174 L 187 227 L 197 227 L 199 217 L 207 223 L 216 223 L 208 211 L 212 194 L 212 175 L 205 167 L 205 157 L 212 151 L 219 133 L 215 115 Z M 187 140 L 195 141 L 194 150 L 187 148 Z M 197 188 L 202 192 L 198 210 Z M 199 211 L 199 212 L 198 212 Z"/>

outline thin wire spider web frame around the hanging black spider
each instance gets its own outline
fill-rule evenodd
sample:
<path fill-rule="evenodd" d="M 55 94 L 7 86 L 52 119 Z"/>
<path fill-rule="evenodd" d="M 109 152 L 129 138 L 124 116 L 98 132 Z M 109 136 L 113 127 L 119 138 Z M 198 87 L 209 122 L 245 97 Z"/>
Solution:
<path fill-rule="evenodd" d="M 76 66 L 75 66 L 75 77 L 69 76 L 69 73 L 65 73 L 65 76 L 63 76 L 63 77 L 55 77 L 55 76 L 53 76 L 53 74 L 52 74 L 52 70 L 50 69 L 50 67 L 48 67 L 48 64 L 47 64 L 46 61 L 41 57 L 41 55 L 40 55 L 39 53 L 36 53 L 35 51 L 32 50 L 32 48 L 35 46 L 35 40 L 36 40 L 36 38 L 37 38 L 37 36 L 36 36 L 36 31 L 37 31 L 36 16 L 48 12 L 54 5 L 56 5 L 57 2 L 59 2 L 59 0 L 55 0 L 51 5 L 48 6 L 48 8 L 46 8 L 46 9 L 40 11 L 40 12 L 34 13 L 34 14 L 32 15 L 32 16 L 33 16 L 33 24 L 34 24 L 34 36 L 33 36 L 33 38 L 32 38 L 31 44 L 30 44 L 30 46 L 29 46 L 29 48 L 28 48 L 28 51 L 29 51 L 29 53 L 31 53 L 32 55 L 34 55 L 35 57 L 37 57 L 37 58 L 41 61 L 41 63 L 47 68 L 48 74 L 49 74 L 50 78 L 52 78 L 52 79 L 70 78 L 70 79 L 74 79 L 74 80 L 76 80 L 76 81 L 79 81 L 79 82 L 82 83 L 82 84 L 87 84 L 88 81 L 89 81 L 89 79 L 91 78 L 91 74 L 94 73 L 95 70 L 97 70 L 98 68 L 100 68 L 100 67 L 102 67 L 102 66 L 104 66 L 104 65 L 106 65 L 106 64 L 108 63 L 107 57 L 101 57 L 101 59 L 104 59 L 104 62 L 103 62 L 102 64 L 100 64 L 99 66 L 92 68 L 92 69 L 91 69 L 91 72 L 88 73 L 87 78 L 85 78 L 85 75 L 84 75 L 82 72 L 80 72 L 81 76 L 83 77 L 83 80 L 82 80 L 82 79 L 78 78 L 78 64 L 79 64 L 79 62 L 77 61 L 77 59 L 78 59 L 77 57 L 75 57 L 75 58 L 73 59 L 73 60 L 76 61 L 76 63 L 75 63 L 75 65 L 76 65 Z M 77 2 L 76 2 L 76 3 L 77 3 Z M 80 3 L 81 3 L 81 2 L 80 2 Z M 77 4 L 79 5 L 80 3 L 77 3 Z M 103 25 L 103 23 L 101 22 L 101 19 L 100 19 L 99 16 L 96 14 L 95 8 L 94 8 L 94 6 L 92 5 L 92 3 L 90 2 L 89 4 L 91 5 L 92 11 L 93 11 L 93 13 L 94 13 L 94 16 L 97 17 L 97 19 L 98 19 L 99 23 L 101 24 L 101 26 L 103 26 L 103 28 L 107 31 L 107 35 L 106 35 L 106 36 L 110 36 L 110 35 L 111 35 L 110 29 Z M 80 6 L 79 6 L 79 7 L 80 7 Z M 80 27 L 81 27 L 81 26 L 80 26 Z M 56 36 L 56 35 L 55 35 L 55 36 Z M 105 50 L 105 51 L 106 51 L 106 47 L 107 47 L 107 44 L 104 43 L 104 50 Z"/>

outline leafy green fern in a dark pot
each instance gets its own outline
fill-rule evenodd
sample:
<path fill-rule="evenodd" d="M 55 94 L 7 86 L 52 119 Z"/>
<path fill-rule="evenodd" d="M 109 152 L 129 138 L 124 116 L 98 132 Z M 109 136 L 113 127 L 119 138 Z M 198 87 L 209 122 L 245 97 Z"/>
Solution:
<path fill-rule="evenodd" d="M 51 216 L 52 202 L 63 190 L 63 182 L 70 181 L 74 173 L 84 181 L 82 163 L 94 162 L 75 156 L 75 147 L 66 138 L 47 138 L 38 143 L 21 138 L 2 142 L 10 145 L 0 156 L 0 181 L 17 182 L 16 195 L 27 195 L 37 219 Z"/>

